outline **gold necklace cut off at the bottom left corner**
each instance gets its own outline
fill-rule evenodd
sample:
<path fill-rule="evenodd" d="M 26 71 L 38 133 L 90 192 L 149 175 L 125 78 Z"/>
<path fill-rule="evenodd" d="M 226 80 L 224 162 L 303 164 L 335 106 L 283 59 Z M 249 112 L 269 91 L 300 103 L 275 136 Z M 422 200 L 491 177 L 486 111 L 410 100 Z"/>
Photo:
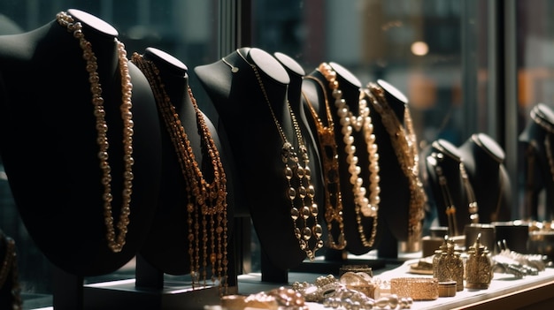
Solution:
<path fill-rule="evenodd" d="M 2 243 L 4 243 L 5 254 L 2 265 L 0 266 L 0 291 L 4 290 L 4 284 L 8 281 L 8 277 L 12 276 L 10 279 L 12 281 L 12 288 L 10 289 L 13 299 L 12 309 L 22 309 L 22 300 L 19 294 L 20 288 L 15 241 L 0 231 L 0 245 Z"/>

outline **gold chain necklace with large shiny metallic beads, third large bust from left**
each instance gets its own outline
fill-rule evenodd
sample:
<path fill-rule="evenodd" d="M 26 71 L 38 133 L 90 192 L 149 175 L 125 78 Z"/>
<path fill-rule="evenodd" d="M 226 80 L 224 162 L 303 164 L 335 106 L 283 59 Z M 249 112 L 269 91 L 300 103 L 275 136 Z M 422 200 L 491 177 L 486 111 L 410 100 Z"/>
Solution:
<path fill-rule="evenodd" d="M 308 156 L 308 149 L 304 145 L 304 138 L 302 137 L 302 132 L 300 131 L 300 125 L 298 124 L 296 116 L 292 108 L 290 107 L 289 101 L 287 101 L 289 114 L 292 119 L 294 131 L 296 134 L 296 140 L 298 143 L 298 153 L 296 153 L 295 148 L 287 139 L 281 123 L 279 122 L 278 118 L 275 115 L 275 112 L 273 111 L 271 101 L 269 100 L 269 96 L 265 91 L 264 82 L 258 71 L 258 66 L 256 66 L 255 64 L 250 64 L 246 57 L 242 55 L 240 50 L 237 49 L 236 52 L 242 58 L 242 60 L 250 65 L 250 67 L 254 71 L 262 95 L 264 95 L 265 103 L 267 104 L 267 107 L 271 112 L 273 123 L 277 127 L 279 135 L 281 136 L 281 159 L 282 162 L 285 164 L 284 177 L 286 178 L 289 185 L 289 188 L 286 191 L 286 196 L 289 198 L 291 203 L 290 217 L 293 222 L 294 234 L 296 239 L 298 240 L 298 245 L 300 246 L 300 249 L 303 250 L 304 253 L 306 253 L 306 257 L 310 259 L 310 261 L 313 261 L 315 259 L 316 251 L 318 251 L 324 245 L 324 242 L 321 239 L 323 230 L 321 228 L 321 225 L 319 225 L 318 223 L 319 208 L 314 201 L 315 189 L 311 183 L 312 171 L 308 166 L 308 164 L 310 163 L 310 159 Z M 225 59 L 223 60 L 224 63 L 230 65 Z M 236 72 L 233 71 L 233 68 L 236 67 L 232 65 L 230 66 L 232 72 Z M 304 162 L 304 166 L 300 163 L 299 157 Z M 295 185 L 293 185 L 292 183 L 292 180 L 295 178 L 299 182 L 296 188 Z M 296 207 L 295 200 L 299 200 L 298 207 Z M 312 228 L 309 227 L 308 224 L 308 220 L 311 217 L 314 221 Z M 302 229 L 297 224 L 298 219 L 302 219 Z M 309 240 L 312 239 L 312 237 L 315 238 L 315 244 L 311 248 L 309 245 Z"/>

